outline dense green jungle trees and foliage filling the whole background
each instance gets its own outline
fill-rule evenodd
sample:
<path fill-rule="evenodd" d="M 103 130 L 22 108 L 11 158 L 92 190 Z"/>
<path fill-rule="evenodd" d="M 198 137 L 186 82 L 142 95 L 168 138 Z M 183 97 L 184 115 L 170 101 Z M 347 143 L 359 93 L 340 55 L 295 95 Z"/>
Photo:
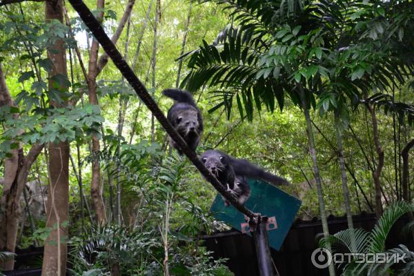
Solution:
<path fill-rule="evenodd" d="M 197 154 L 288 179 L 297 217 L 324 227 L 413 210 L 412 1 L 85 3 L 164 114 L 162 90 L 193 93 Z M 0 1 L 0 118 L 3 269 L 33 244 L 43 275 L 232 275 L 200 241 L 230 228 L 209 212 L 216 190 L 69 2 Z"/>

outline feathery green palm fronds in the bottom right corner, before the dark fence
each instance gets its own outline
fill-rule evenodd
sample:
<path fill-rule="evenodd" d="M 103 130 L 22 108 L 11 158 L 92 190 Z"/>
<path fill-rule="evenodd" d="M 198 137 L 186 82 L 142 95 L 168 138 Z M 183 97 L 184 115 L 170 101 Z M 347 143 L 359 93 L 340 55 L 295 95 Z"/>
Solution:
<path fill-rule="evenodd" d="M 361 262 L 359 259 L 353 259 L 342 269 L 343 275 L 389 275 L 394 271 L 397 275 L 413 275 L 414 273 L 414 252 L 409 250 L 403 244 L 399 247 L 386 250 L 385 242 L 391 228 L 402 215 L 414 210 L 414 205 L 406 201 L 397 201 L 384 210 L 384 213 L 375 224 L 371 232 L 362 228 L 342 230 L 335 235 L 322 237 L 319 246 L 330 246 L 333 253 L 398 253 L 404 255 L 404 266 L 402 268 L 393 268 L 393 262 L 384 264 L 375 264 L 375 262 Z M 352 243 L 352 237 L 355 243 Z M 358 262 L 357 262 L 358 261 Z"/>

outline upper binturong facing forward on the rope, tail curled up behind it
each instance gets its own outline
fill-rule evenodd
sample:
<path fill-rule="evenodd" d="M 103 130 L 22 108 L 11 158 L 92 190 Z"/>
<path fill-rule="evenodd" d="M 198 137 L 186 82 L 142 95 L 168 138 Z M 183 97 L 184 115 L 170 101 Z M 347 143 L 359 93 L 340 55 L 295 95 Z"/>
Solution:
<path fill-rule="evenodd" d="M 179 89 L 166 89 L 164 95 L 175 100 L 175 103 L 168 110 L 167 119 L 170 124 L 177 130 L 179 135 L 186 141 L 187 145 L 196 150 L 203 132 L 203 118 L 201 112 L 195 104 L 193 95 L 189 92 Z M 170 137 L 170 145 L 174 147 L 179 154 L 182 152 L 178 145 Z"/>

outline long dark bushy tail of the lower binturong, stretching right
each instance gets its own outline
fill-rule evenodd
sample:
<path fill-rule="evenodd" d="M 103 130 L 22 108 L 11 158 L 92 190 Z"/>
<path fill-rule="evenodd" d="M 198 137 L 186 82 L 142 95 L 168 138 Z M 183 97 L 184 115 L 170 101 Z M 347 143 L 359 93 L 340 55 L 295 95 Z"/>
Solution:
<path fill-rule="evenodd" d="M 290 183 L 283 177 L 272 175 L 269 172 L 265 172 L 261 168 L 251 164 L 246 159 L 230 159 L 230 164 L 235 170 L 235 175 L 242 175 L 253 179 L 262 179 L 274 185 L 289 185 Z"/>

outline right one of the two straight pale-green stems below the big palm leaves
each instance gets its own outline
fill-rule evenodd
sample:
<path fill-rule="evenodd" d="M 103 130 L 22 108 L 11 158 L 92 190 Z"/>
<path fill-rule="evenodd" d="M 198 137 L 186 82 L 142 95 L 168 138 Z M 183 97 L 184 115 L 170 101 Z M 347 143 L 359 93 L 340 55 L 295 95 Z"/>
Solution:
<path fill-rule="evenodd" d="M 338 144 L 339 168 L 341 169 L 342 193 L 344 194 L 344 206 L 346 211 L 346 221 L 348 222 L 348 229 L 353 230 L 353 220 L 351 213 L 351 201 L 349 200 L 348 179 L 346 179 L 346 168 L 344 160 L 344 146 L 342 145 L 342 129 L 339 121 L 339 114 L 335 110 L 335 129 Z M 353 250 L 356 250 L 355 236 L 351 233 L 351 243 Z"/>

